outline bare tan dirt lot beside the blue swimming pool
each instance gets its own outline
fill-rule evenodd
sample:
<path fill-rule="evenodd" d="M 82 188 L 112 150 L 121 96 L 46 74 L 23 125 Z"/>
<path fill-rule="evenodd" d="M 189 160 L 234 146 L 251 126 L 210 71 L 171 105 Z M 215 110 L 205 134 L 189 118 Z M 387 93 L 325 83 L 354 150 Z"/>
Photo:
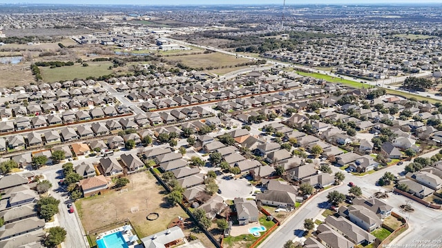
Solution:
<path fill-rule="evenodd" d="M 128 192 L 110 190 L 100 196 L 77 200 L 75 206 L 86 233 L 117 220 L 130 219 L 139 238 L 143 238 L 166 229 L 177 216 L 189 217 L 180 207 L 165 205 L 164 188 L 156 184 L 157 180 L 150 172 L 133 174 L 128 178 L 131 180 L 126 186 Z M 139 207 L 140 211 L 132 214 L 131 207 Z M 146 216 L 153 212 L 159 214 L 159 218 L 146 220 Z"/>

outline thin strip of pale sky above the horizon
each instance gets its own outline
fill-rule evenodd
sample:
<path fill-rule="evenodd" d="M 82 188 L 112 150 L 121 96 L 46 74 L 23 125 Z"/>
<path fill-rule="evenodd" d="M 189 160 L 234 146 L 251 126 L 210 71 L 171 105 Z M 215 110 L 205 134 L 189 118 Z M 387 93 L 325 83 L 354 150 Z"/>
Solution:
<path fill-rule="evenodd" d="M 282 4 L 283 0 L 0 0 L 0 3 L 66 3 L 66 4 L 142 4 L 142 5 L 210 5 L 210 4 Z M 442 0 L 286 0 L 286 5 L 295 4 L 410 4 L 441 3 Z"/>

